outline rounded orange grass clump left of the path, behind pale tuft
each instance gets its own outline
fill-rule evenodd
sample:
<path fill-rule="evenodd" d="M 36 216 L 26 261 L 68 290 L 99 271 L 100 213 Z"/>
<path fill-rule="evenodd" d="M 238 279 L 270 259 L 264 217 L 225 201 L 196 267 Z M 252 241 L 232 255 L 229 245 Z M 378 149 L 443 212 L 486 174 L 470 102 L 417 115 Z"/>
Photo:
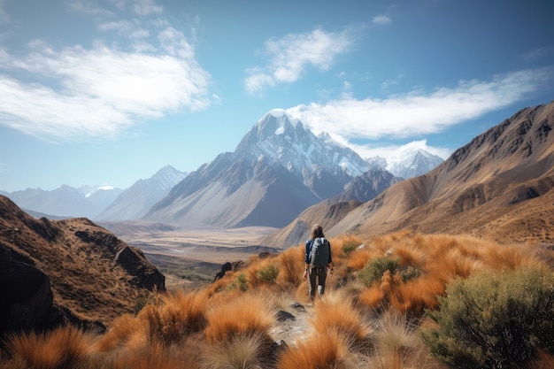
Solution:
<path fill-rule="evenodd" d="M 209 343 L 216 343 L 242 334 L 269 336 L 272 325 L 273 309 L 267 298 L 242 294 L 209 311 L 204 332 Z"/>

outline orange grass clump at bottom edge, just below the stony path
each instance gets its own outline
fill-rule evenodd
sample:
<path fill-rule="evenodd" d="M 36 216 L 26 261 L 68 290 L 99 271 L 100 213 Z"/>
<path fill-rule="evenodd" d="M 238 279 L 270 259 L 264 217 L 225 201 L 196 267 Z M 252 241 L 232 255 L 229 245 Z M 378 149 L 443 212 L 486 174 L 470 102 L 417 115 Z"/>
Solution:
<path fill-rule="evenodd" d="M 307 337 L 297 348 L 289 347 L 279 357 L 279 369 L 344 368 L 343 362 L 350 353 L 349 338 L 328 330 Z"/>

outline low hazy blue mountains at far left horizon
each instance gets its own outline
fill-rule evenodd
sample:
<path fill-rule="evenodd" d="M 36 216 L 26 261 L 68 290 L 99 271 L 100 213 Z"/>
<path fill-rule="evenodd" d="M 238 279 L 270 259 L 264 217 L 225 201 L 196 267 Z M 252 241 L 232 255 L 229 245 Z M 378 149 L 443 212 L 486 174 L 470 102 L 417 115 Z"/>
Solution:
<path fill-rule="evenodd" d="M 93 219 L 106 206 L 112 204 L 122 191 L 121 188 L 107 186 L 73 188 L 64 185 L 51 191 L 45 191 L 42 188 L 27 188 L 13 191 L 6 196 L 10 197 L 19 207 L 29 211 L 66 218 Z"/>

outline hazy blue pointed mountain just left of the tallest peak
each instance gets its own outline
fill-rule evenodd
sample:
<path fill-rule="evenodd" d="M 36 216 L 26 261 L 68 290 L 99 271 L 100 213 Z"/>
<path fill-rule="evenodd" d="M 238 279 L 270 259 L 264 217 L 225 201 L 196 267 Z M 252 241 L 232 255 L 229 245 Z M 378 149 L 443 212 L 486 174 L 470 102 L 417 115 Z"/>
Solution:
<path fill-rule="evenodd" d="M 187 173 L 179 172 L 171 165 L 164 166 L 149 179 L 136 181 L 94 219 L 97 221 L 141 219 L 186 176 Z"/>

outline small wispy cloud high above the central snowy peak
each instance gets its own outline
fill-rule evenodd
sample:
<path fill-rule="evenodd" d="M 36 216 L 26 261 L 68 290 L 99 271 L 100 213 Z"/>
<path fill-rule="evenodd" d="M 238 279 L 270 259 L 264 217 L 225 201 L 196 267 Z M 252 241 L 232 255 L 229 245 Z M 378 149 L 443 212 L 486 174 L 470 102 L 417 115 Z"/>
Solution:
<path fill-rule="evenodd" d="M 286 35 L 265 42 L 263 54 L 269 59 L 265 66 L 246 71 L 246 91 L 256 95 L 267 87 L 298 81 L 309 66 L 327 71 L 335 58 L 350 49 L 352 33 L 328 33 L 315 29 L 309 34 Z"/>

